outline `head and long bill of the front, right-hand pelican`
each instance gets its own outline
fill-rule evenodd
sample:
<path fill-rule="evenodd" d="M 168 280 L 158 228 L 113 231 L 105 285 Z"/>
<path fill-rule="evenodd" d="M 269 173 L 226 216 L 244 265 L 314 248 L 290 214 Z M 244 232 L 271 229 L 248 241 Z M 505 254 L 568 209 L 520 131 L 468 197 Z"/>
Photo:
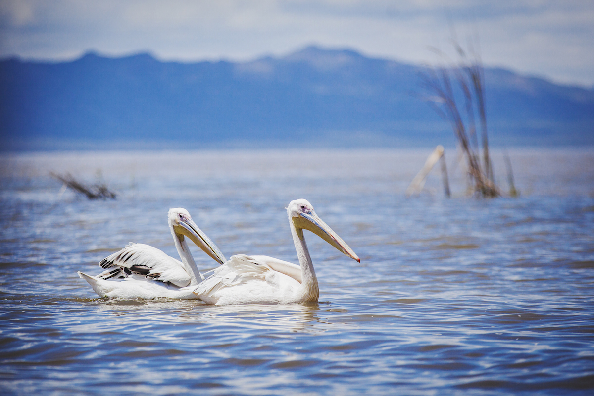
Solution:
<path fill-rule="evenodd" d="M 297 235 L 301 239 L 303 239 L 302 230 L 309 230 L 350 258 L 361 262 L 361 259 L 349 248 L 349 245 L 315 214 L 314 207 L 307 199 L 295 199 L 295 201 L 291 201 L 287 207 L 287 214 L 289 215 L 289 220 L 293 222 L 297 230 Z"/>

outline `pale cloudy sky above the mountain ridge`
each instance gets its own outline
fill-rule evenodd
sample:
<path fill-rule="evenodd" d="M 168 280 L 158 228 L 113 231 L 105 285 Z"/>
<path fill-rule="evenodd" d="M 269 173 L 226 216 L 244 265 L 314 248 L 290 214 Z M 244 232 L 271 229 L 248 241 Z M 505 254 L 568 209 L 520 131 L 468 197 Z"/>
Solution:
<path fill-rule="evenodd" d="M 0 0 L 1 58 L 249 61 L 318 45 L 419 64 L 452 37 L 478 37 L 486 66 L 594 87 L 592 0 Z"/>

